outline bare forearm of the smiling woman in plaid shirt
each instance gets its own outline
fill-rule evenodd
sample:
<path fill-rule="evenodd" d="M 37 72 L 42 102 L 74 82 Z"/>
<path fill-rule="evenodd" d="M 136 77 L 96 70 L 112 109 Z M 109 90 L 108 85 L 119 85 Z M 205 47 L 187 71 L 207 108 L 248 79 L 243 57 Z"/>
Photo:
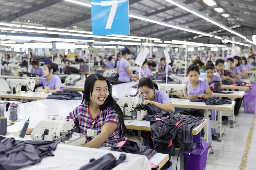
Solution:
<path fill-rule="evenodd" d="M 101 129 L 101 133 L 94 137 L 90 142 L 82 145 L 84 147 L 97 148 L 102 145 L 109 136 L 115 131 L 117 127 L 116 123 L 107 122 L 104 123 Z"/>

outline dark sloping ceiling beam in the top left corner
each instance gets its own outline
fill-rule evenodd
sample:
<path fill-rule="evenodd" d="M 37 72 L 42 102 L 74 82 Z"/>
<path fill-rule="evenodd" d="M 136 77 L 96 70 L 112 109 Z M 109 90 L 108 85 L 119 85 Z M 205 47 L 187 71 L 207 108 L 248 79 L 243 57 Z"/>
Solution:
<path fill-rule="evenodd" d="M 56 3 L 61 2 L 61 1 L 63 1 L 63 0 L 50 0 L 50 1 L 46 1 L 46 2 L 41 3 L 39 5 L 33 6 L 33 7 L 29 8 L 29 9 L 24 9 L 23 11 L 20 11 L 18 13 L 9 15 L 8 17 L 2 18 L 1 21 L 7 21 L 7 22 L 13 21 L 16 18 L 19 18 L 21 16 L 24 16 L 24 15 L 29 14 L 31 12 L 40 10 L 42 8 L 48 7 L 50 5 L 56 4 Z"/>

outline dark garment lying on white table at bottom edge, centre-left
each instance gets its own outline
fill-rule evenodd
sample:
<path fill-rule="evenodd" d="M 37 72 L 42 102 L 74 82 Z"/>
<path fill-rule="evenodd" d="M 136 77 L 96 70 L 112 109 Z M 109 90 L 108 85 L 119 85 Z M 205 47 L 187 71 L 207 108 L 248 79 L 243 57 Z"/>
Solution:
<path fill-rule="evenodd" d="M 126 155 L 123 153 L 119 156 L 118 160 L 116 160 L 112 153 L 108 153 L 99 159 L 91 159 L 90 163 L 82 166 L 79 170 L 109 170 L 123 163 L 125 159 Z"/>

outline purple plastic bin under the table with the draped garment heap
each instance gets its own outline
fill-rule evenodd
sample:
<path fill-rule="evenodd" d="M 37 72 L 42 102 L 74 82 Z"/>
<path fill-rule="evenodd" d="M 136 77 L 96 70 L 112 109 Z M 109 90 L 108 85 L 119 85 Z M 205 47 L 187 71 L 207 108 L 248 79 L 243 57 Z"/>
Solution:
<path fill-rule="evenodd" d="M 183 151 L 184 166 L 187 162 L 186 169 L 189 170 L 205 170 L 208 155 L 209 144 L 206 140 L 201 139 L 201 143 L 190 153 Z"/>

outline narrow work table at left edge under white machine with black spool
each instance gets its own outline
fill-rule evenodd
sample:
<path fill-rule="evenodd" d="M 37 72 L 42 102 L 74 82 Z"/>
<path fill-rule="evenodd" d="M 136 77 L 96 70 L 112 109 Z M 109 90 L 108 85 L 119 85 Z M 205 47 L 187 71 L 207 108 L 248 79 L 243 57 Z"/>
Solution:
<path fill-rule="evenodd" d="M 15 94 L 0 92 L 0 98 L 18 98 L 18 99 L 30 99 L 30 100 L 41 100 L 45 99 L 48 95 L 52 93 L 44 93 L 44 92 L 34 92 L 34 91 L 21 91 Z"/>

